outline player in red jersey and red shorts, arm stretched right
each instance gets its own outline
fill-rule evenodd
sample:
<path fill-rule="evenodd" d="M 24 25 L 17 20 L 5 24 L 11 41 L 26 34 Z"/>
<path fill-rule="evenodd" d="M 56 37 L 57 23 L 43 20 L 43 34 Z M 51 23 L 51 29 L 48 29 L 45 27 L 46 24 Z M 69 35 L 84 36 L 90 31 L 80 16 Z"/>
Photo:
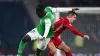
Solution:
<path fill-rule="evenodd" d="M 76 20 L 77 14 L 75 11 L 69 11 L 67 17 L 61 17 L 54 23 L 54 37 L 51 38 L 48 48 L 50 49 L 50 52 L 48 56 L 54 56 L 54 54 L 57 51 L 57 48 L 60 50 L 63 50 L 66 54 L 66 56 L 72 56 L 70 48 L 59 38 L 59 35 L 65 31 L 67 28 L 71 32 L 83 37 L 89 39 L 88 35 L 84 35 L 80 33 L 78 30 L 76 30 L 71 23 Z"/>

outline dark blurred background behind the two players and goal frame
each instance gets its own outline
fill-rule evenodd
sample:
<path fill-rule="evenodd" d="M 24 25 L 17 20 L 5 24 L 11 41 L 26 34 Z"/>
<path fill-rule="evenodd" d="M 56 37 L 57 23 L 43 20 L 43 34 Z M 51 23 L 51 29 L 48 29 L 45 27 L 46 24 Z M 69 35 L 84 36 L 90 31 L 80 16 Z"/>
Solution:
<path fill-rule="evenodd" d="M 0 0 L 0 56 L 15 56 L 20 40 L 37 26 L 39 23 L 35 13 L 37 4 L 52 7 L 99 7 L 99 2 L 99 0 Z M 65 31 L 61 38 L 70 46 L 73 55 L 100 56 L 100 14 L 79 14 L 74 26 L 84 34 L 88 34 L 91 39 L 83 40 Z M 77 42 L 78 40 L 81 40 L 79 41 L 81 44 Z M 29 43 L 23 52 L 24 56 L 34 56 L 34 41 Z M 44 52 L 48 52 L 48 49 Z M 61 53 L 64 56 L 63 52 Z M 47 54 L 43 53 L 43 56 Z"/>

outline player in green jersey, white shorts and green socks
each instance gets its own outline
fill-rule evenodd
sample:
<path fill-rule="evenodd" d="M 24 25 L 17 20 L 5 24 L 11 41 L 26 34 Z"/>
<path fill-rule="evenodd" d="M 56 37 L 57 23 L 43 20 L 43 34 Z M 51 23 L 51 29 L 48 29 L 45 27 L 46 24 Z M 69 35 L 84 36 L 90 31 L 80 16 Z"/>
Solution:
<path fill-rule="evenodd" d="M 28 32 L 20 42 L 17 56 L 21 56 L 28 41 L 38 40 L 38 48 L 35 56 L 40 56 L 41 51 L 47 47 L 50 38 L 54 36 L 54 16 L 48 7 L 38 5 L 36 14 L 40 17 L 40 24 Z"/>

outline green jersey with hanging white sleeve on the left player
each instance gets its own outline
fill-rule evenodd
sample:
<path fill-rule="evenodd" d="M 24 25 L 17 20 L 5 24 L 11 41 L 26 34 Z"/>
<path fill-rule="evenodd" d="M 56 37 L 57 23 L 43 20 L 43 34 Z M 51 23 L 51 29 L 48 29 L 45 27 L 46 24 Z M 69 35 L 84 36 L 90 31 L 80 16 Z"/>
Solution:
<path fill-rule="evenodd" d="M 40 17 L 40 24 L 36 27 L 36 29 L 41 36 L 51 38 L 54 35 L 54 16 L 52 10 L 49 7 L 46 7 L 45 11 L 46 15 L 42 18 Z"/>

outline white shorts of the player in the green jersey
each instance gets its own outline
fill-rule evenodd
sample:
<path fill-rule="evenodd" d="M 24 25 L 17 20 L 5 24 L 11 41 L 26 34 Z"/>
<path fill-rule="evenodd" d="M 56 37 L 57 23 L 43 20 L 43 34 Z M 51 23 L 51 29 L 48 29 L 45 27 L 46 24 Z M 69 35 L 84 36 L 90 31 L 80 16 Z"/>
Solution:
<path fill-rule="evenodd" d="M 50 38 L 46 38 L 45 40 L 40 40 L 41 38 L 43 38 L 37 31 L 36 28 L 32 29 L 31 31 L 29 31 L 27 33 L 27 35 L 29 35 L 31 37 L 31 40 L 38 40 L 38 49 L 40 50 L 45 50 L 47 47 L 47 44 L 50 41 Z"/>

